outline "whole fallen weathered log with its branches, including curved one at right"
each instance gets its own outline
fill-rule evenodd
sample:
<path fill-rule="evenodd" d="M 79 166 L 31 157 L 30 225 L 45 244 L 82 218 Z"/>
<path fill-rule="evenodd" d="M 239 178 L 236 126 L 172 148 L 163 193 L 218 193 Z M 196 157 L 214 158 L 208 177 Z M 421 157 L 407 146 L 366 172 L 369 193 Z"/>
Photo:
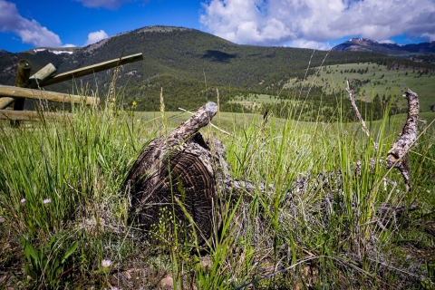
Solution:
<path fill-rule="evenodd" d="M 407 97 L 409 100 L 408 120 L 401 132 L 401 138 L 393 143 L 389 151 L 387 159 L 390 161 L 372 159 L 370 167 L 374 168 L 376 162 L 383 166 L 387 165 L 387 167 L 398 167 L 398 162 L 406 156 L 407 151 L 415 142 L 418 98 L 417 94 L 411 91 L 408 91 Z M 211 237 L 213 226 L 220 225 L 219 208 L 215 210 L 214 207 L 218 206 L 217 198 L 221 193 L 225 195 L 224 199 L 231 197 L 232 200 L 241 202 L 239 210 L 242 213 L 237 216 L 238 220 L 236 218 L 233 222 L 238 228 L 237 232 L 243 236 L 247 225 L 243 212 L 252 202 L 251 193 L 261 191 L 265 196 L 274 193 L 273 184 L 266 185 L 251 180 L 233 179 L 229 175 L 229 165 L 225 160 L 224 145 L 219 140 L 202 139 L 198 130 L 211 121 L 216 111 L 216 104 L 208 103 L 194 113 L 188 121 L 170 132 L 168 136 L 151 140 L 140 153 L 124 181 L 123 190 L 131 200 L 130 222 L 135 224 L 134 227 L 150 233 L 149 237 L 161 235 L 157 232 L 157 225 L 164 223 L 165 227 L 169 226 L 169 231 L 177 227 L 181 239 L 188 238 L 189 242 L 194 241 L 193 231 L 195 229 L 196 240 L 199 243 L 208 240 Z M 355 162 L 354 174 L 361 174 L 361 169 L 361 161 Z M 396 183 L 389 179 L 383 180 L 390 181 L 394 187 L 396 186 Z M 411 181 L 405 179 L 405 185 L 411 187 Z M 283 210 L 279 211 L 278 220 L 285 220 L 289 217 L 297 219 L 300 215 L 298 200 L 317 191 L 322 194 L 310 205 L 310 208 L 305 208 L 304 217 L 301 217 L 301 220 L 305 222 L 314 222 L 321 214 L 323 217 L 321 226 L 326 228 L 329 227 L 329 218 L 332 217 L 333 211 L 343 211 L 346 214 L 347 210 L 353 210 L 353 205 L 356 208 L 356 197 L 353 197 L 351 201 L 351 208 L 344 206 L 343 173 L 341 170 L 334 170 L 295 179 L 285 193 L 285 197 L 280 201 L 279 208 Z M 376 218 L 378 218 L 380 227 L 386 227 L 391 220 L 415 209 L 415 206 L 406 208 L 382 205 L 376 213 Z M 169 216 L 175 213 L 175 217 L 163 218 L 162 210 Z M 261 225 L 262 222 L 258 224 Z M 258 237 L 262 237 L 261 228 L 257 228 L 255 232 L 259 234 Z M 256 237 L 254 236 L 252 238 L 255 242 Z M 164 238 L 168 238 L 170 242 L 169 237 Z"/>

